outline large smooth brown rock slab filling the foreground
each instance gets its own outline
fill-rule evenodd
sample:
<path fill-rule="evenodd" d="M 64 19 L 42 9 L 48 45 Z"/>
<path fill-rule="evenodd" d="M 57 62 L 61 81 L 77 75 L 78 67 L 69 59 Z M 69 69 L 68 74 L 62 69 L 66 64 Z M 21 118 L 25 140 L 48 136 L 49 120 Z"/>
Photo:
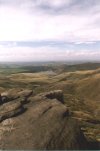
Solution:
<path fill-rule="evenodd" d="M 21 93 L 24 95 L 24 92 Z M 18 94 L 19 95 L 19 94 Z M 60 100 L 59 100 L 59 97 Z M 20 116 L 13 117 L 13 130 L 3 134 L 1 149 L 89 149 L 80 127 L 75 119 L 71 119 L 69 109 L 62 103 L 62 91 L 42 93 L 31 97 L 28 104 L 3 105 L 2 114 L 12 117 L 21 107 L 27 108 Z M 8 106 L 8 107 L 7 107 Z M 10 116 L 8 116 L 10 113 Z M 18 112 L 17 112 L 18 113 Z M 2 124 L 2 123 L 1 123 Z M 12 124 L 9 124 L 9 129 Z"/>

